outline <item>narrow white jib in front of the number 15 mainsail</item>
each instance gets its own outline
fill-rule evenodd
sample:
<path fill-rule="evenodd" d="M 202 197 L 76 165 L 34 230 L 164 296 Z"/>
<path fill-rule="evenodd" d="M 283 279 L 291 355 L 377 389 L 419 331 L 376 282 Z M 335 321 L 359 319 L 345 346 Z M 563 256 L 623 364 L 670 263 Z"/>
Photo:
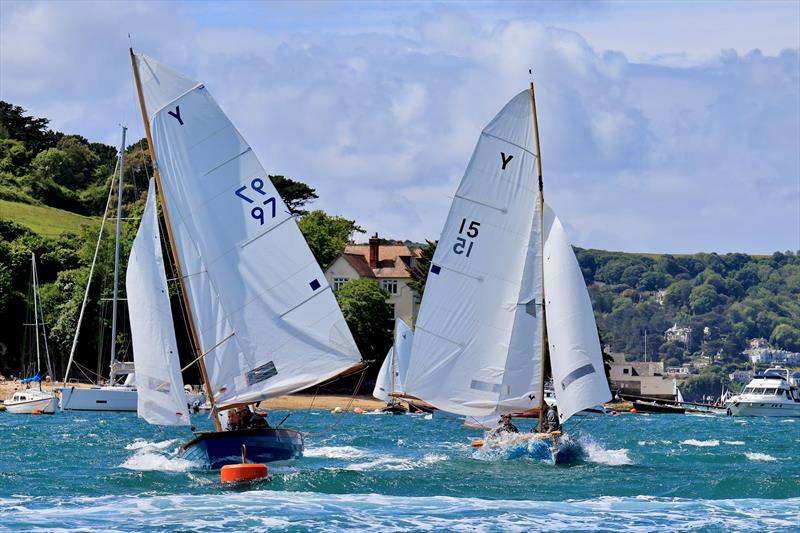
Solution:
<path fill-rule="evenodd" d="M 592 302 L 561 221 L 545 206 L 544 286 L 550 368 L 565 422 L 578 411 L 611 400 Z"/>

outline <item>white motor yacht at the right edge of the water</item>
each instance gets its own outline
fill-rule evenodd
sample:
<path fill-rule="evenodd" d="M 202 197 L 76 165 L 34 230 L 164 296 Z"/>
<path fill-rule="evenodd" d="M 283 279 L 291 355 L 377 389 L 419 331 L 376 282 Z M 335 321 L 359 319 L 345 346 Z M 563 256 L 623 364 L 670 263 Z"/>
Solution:
<path fill-rule="evenodd" d="M 800 416 L 800 393 L 789 370 L 769 368 L 757 374 L 741 394 L 725 402 L 732 416 Z"/>

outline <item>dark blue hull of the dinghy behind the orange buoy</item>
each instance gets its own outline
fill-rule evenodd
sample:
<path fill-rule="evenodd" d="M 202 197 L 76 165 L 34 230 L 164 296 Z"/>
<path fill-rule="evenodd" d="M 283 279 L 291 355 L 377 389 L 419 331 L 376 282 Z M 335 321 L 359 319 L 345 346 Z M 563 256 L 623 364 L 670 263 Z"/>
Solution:
<path fill-rule="evenodd" d="M 184 459 L 219 470 L 242 462 L 242 445 L 247 448 L 247 462 L 288 461 L 303 455 L 303 436 L 293 429 L 243 429 L 198 433 L 181 447 Z"/>

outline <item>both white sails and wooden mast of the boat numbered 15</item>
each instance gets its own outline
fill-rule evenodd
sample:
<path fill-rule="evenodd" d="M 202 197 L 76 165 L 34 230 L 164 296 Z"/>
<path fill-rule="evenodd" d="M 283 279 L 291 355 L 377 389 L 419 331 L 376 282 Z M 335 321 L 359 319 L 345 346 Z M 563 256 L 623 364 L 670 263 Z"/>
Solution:
<path fill-rule="evenodd" d="M 548 366 L 559 423 L 611 392 L 580 267 L 544 203 L 539 153 L 531 83 L 483 130 L 456 191 L 405 388 L 467 417 L 536 410 L 542 432 Z M 540 435 L 560 461 L 560 432 Z"/>

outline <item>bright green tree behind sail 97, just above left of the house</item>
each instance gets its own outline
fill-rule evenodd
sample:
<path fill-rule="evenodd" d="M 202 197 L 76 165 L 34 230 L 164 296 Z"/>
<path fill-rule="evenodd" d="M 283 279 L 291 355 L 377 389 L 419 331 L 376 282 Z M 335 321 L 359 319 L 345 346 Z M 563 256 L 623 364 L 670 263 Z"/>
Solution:
<path fill-rule="evenodd" d="M 323 270 L 344 252 L 352 240 L 353 233 L 364 233 L 354 220 L 330 216 L 320 210 L 311 211 L 300 217 L 298 225 Z"/>

